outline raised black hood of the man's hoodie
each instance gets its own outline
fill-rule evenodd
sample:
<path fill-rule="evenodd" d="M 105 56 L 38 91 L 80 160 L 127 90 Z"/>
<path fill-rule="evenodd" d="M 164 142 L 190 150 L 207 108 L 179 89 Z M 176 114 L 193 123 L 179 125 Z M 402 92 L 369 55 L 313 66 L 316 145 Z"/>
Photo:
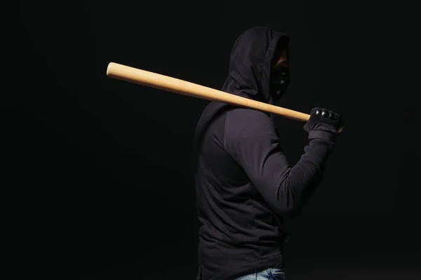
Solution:
<path fill-rule="evenodd" d="M 274 104 L 283 92 L 278 94 L 276 99 L 271 96 L 272 59 L 276 48 L 288 43 L 288 35 L 269 27 L 253 27 L 243 32 L 232 47 L 228 77 L 221 90 L 258 102 Z M 213 118 L 230 107 L 232 106 L 221 102 L 210 102 L 206 106 L 196 126 L 196 144 Z"/>

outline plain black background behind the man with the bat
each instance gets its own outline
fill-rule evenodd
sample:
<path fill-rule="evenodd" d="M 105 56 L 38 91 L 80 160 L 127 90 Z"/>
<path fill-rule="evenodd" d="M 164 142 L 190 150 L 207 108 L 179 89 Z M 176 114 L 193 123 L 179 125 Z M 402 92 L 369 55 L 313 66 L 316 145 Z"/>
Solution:
<path fill-rule="evenodd" d="M 279 106 L 324 106 L 346 122 L 325 180 L 287 221 L 287 279 L 421 278 L 420 116 L 403 67 L 413 7 L 14 5 L 1 90 L 3 279 L 194 279 L 192 136 L 207 102 L 105 71 L 117 62 L 219 89 L 236 37 L 262 25 L 291 36 L 293 81 Z M 305 132 L 276 122 L 293 164 Z"/>

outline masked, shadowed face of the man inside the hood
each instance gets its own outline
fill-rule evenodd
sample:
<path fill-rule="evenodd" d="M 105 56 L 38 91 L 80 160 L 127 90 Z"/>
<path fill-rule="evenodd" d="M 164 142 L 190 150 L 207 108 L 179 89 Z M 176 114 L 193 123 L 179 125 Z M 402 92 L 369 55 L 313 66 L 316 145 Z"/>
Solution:
<path fill-rule="evenodd" d="M 270 95 L 274 103 L 282 97 L 290 83 L 288 69 L 288 46 L 278 48 L 272 60 L 272 73 L 270 75 Z"/>

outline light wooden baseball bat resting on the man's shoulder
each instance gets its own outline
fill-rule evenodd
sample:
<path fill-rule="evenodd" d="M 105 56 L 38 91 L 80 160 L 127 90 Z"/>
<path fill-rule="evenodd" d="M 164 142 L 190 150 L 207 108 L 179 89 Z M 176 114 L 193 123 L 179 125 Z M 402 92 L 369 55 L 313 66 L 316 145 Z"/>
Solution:
<path fill-rule="evenodd" d="M 164 76 L 159 73 L 149 72 L 141 69 L 136 69 L 130 66 L 110 62 L 107 67 L 107 76 L 116 78 L 118 80 L 125 80 L 130 83 L 137 83 L 148 87 L 154 87 L 168 92 L 175 92 L 178 94 L 188 95 L 200 99 L 210 101 L 224 102 L 235 106 L 246 107 L 267 113 L 274 113 L 291 120 L 299 120 L 307 122 L 309 114 L 300 113 L 290 109 L 285 109 L 279 106 L 258 102 L 245 97 L 239 97 L 234 94 L 215 90 L 210 87 L 198 85 L 196 83 L 187 82 L 187 80 L 180 80 Z"/>

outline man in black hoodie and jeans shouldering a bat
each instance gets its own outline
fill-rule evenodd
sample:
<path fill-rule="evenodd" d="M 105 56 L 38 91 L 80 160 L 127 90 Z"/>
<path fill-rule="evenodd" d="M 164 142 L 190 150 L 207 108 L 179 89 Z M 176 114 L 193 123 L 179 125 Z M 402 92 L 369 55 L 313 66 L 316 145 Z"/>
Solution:
<path fill-rule="evenodd" d="M 248 29 L 236 40 L 222 90 L 275 104 L 289 82 L 286 34 Z M 284 279 L 283 216 L 296 214 L 321 182 L 340 116 L 313 109 L 309 144 L 291 167 L 272 116 L 210 102 L 195 134 L 198 279 Z"/>

